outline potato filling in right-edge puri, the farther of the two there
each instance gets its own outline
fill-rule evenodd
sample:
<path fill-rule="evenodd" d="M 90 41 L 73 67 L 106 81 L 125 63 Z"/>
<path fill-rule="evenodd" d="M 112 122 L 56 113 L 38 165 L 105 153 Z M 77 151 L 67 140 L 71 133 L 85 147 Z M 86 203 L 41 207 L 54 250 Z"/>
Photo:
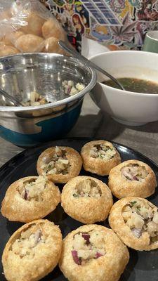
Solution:
<path fill-rule="evenodd" d="M 145 166 L 129 164 L 121 169 L 121 175 L 128 181 L 143 181 L 148 173 Z"/>

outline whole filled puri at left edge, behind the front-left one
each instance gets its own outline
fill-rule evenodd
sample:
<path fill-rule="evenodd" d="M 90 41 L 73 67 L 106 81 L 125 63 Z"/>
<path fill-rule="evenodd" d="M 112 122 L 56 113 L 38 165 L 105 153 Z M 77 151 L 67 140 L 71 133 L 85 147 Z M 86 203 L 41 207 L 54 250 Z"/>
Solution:
<path fill-rule="evenodd" d="M 1 204 L 1 214 L 9 221 L 27 223 L 44 218 L 59 202 L 60 190 L 54 183 L 44 177 L 27 176 L 8 187 Z"/>

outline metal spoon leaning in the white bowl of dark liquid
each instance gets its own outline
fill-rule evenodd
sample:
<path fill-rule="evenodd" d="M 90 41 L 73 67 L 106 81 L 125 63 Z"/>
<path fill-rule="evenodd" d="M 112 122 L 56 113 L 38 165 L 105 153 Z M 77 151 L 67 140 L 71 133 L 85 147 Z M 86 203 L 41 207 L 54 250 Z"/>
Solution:
<path fill-rule="evenodd" d="M 121 90 L 124 90 L 124 87 L 119 83 L 119 81 L 116 78 L 114 78 L 111 74 L 107 73 L 105 70 L 103 70 L 101 67 L 99 67 L 95 63 L 92 63 L 91 60 L 88 60 L 87 58 L 85 58 L 84 55 L 80 55 L 80 53 L 78 53 L 77 51 L 75 51 L 72 48 L 70 48 L 69 46 L 67 46 L 67 44 L 65 44 L 65 42 L 63 42 L 61 40 L 58 41 L 58 44 L 62 49 L 64 49 L 71 55 L 74 55 L 76 58 L 79 58 L 79 60 L 82 60 L 87 65 L 91 66 L 92 68 L 95 68 L 99 72 L 103 73 L 105 76 L 112 79 L 112 81 L 114 81 L 119 86 L 119 88 L 121 88 Z"/>

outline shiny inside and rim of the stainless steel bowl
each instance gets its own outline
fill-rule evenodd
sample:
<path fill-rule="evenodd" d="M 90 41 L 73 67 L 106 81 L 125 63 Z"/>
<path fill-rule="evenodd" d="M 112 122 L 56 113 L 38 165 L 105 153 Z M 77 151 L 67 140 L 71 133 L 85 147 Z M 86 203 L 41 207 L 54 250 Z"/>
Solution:
<path fill-rule="evenodd" d="M 96 72 L 77 58 L 55 53 L 24 53 L 0 59 L 0 87 L 20 101 L 29 100 L 29 94 L 37 91 L 46 97 L 46 105 L 15 107 L 0 96 L 0 112 L 29 112 L 71 103 L 82 98 L 96 84 Z M 86 88 L 74 96 L 62 91 L 62 81 L 72 80 Z"/>

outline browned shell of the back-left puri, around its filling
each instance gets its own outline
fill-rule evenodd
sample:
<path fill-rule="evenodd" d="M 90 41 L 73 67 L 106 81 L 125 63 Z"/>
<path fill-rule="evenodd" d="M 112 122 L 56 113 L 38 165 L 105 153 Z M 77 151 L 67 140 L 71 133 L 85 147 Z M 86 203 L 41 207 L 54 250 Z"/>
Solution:
<path fill-rule="evenodd" d="M 70 162 L 70 171 L 68 174 L 48 174 L 48 179 L 54 183 L 67 183 L 74 176 L 78 176 L 81 171 L 82 161 L 79 152 L 73 148 L 67 146 L 58 146 L 59 149 L 66 151 L 66 157 Z M 41 169 L 42 164 L 44 164 L 44 159 L 51 159 L 55 154 L 55 147 L 47 148 L 44 152 L 39 155 L 37 160 L 37 173 L 39 175 L 43 174 L 43 169 Z"/>

